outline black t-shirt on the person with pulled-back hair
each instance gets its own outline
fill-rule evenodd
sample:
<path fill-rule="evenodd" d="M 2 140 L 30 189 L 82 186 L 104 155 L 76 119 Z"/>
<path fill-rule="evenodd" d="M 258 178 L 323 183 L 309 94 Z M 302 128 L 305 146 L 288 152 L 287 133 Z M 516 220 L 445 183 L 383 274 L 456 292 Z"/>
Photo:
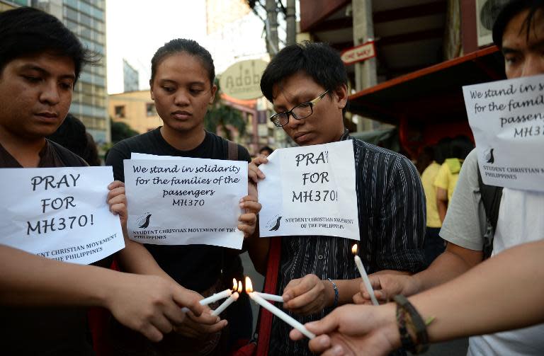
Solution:
<path fill-rule="evenodd" d="M 115 180 L 125 180 L 123 160 L 132 152 L 157 156 L 181 156 L 199 159 L 228 159 L 228 142 L 206 132 L 204 141 L 191 151 L 180 151 L 164 140 L 160 127 L 125 139 L 112 147 L 106 165 L 113 166 Z M 239 161 L 250 161 L 248 151 L 238 145 Z M 130 209 L 130 207 L 128 207 Z M 213 219 L 210 216 L 210 219 Z M 202 292 L 211 287 L 220 276 L 222 268 L 240 269 L 237 253 L 232 249 L 209 245 L 144 245 L 159 266 L 183 287 Z M 225 253 L 228 251 L 228 253 Z"/>

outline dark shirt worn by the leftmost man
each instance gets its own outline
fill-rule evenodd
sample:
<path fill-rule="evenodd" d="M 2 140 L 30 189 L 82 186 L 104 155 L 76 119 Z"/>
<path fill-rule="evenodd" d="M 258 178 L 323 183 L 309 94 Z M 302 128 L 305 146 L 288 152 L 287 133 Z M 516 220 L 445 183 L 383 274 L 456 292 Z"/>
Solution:
<path fill-rule="evenodd" d="M 40 151 L 38 167 L 67 166 L 88 165 L 76 154 L 47 140 Z M 21 167 L 0 145 L 0 168 Z M 0 333 L 1 355 L 94 355 L 85 308 L 1 306 L 0 321 L 3 324 Z"/>

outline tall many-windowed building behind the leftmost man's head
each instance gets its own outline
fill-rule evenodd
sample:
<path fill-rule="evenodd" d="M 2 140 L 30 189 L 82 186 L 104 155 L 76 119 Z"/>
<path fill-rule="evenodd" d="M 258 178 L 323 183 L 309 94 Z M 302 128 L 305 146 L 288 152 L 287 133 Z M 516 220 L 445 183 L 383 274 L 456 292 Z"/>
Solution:
<path fill-rule="evenodd" d="M 51 13 L 77 35 L 84 47 L 96 53 L 96 64 L 81 71 L 70 113 L 85 124 L 96 142 L 109 142 L 105 0 L 0 0 L 0 11 L 18 6 L 33 6 Z"/>

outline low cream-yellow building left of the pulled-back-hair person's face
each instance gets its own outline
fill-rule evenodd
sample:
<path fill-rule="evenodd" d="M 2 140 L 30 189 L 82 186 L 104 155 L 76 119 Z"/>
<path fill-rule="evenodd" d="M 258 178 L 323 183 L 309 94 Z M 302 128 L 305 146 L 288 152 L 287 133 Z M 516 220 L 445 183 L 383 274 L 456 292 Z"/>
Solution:
<path fill-rule="evenodd" d="M 111 120 L 124 122 L 140 134 L 162 125 L 149 90 L 110 94 L 108 114 Z"/>

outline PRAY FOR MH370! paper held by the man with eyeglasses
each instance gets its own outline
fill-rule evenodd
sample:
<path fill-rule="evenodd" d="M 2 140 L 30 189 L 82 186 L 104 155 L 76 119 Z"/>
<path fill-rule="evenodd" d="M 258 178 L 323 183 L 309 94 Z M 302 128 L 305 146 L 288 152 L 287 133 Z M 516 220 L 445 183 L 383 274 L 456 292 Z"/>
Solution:
<path fill-rule="evenodd" d="M 259 166 L 262 237 L 359 239 L 353 142 L 276 149 Z"/>

